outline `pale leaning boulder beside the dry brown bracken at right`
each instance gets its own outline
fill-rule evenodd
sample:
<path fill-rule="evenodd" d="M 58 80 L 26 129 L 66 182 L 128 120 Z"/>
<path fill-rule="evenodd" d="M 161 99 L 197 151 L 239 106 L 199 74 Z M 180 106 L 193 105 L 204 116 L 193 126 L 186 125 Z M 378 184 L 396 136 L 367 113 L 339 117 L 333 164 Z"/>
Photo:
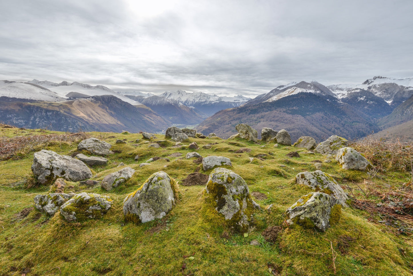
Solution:
<path fill-rule="evenodd" d="M 345 170 L 359 170 L 364 171 L 373 167 L 373 164 L 370 163 L 354 148 L 341 148 L 338 150 L 336 155 L 336 160 L 343 166 Z"/>

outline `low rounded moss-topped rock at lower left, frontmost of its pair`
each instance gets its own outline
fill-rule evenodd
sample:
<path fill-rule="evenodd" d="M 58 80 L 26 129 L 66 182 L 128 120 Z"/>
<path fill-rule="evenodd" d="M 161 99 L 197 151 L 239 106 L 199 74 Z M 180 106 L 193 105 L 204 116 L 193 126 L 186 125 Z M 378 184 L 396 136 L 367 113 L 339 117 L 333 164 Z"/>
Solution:
<path fill-rule="evenodd" d="M 60 215 L 67 221 L 101 218 L 112 206 L 108 195 L 79 193 L 60 206 Z"/>

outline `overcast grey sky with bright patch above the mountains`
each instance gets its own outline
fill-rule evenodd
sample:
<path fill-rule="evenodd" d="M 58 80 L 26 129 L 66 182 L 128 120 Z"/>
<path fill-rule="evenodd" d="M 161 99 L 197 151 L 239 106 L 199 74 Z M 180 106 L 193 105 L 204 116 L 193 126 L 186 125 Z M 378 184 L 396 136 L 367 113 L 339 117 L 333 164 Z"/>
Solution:
<path fill-rule="evenodd" d="M 412 0 L 2 0 L 0 79 L 255 96 L 413 76 Z"/>

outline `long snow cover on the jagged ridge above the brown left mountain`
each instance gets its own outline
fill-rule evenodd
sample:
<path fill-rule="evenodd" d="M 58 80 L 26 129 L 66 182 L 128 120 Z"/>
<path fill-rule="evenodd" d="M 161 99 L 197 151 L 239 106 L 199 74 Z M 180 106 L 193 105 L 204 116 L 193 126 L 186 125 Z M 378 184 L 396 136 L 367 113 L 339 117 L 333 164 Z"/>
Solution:
<path fill-rule="evenodd" d="M 70 92 L 82 93 L 89 96 L 113 95 L 123 100 L 124 102 L 130 103 L 131 105 L 140 105 L 140 102 L 131 100 L 123 95 L 116 93 L 114 90 L 102 85 L 91 86 L 89 84 L 79 83 L 76 81 L 73 83 L 69 83 L 67 81 L 62 81 L 61 83 L 54 83 L 51 81 L 38 81 L 36 79 L 29 81 L 29 83 L 49 88 L 50 90 L 56 92 L 57 95 L 59 95 L 62 98 L 67 98 L 66 95 Z"/>

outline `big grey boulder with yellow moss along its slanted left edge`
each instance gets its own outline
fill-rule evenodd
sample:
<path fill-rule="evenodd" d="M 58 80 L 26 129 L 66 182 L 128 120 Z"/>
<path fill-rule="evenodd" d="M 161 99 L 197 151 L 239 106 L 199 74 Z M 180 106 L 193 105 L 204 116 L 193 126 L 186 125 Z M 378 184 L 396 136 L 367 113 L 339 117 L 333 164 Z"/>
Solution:
<path fill-rule="evenodd" d="M 175 181 L 164 171 L 152 174 L 123 200 L 123 217 L 135 223 L 161 219 L 175 205 Z"/>

